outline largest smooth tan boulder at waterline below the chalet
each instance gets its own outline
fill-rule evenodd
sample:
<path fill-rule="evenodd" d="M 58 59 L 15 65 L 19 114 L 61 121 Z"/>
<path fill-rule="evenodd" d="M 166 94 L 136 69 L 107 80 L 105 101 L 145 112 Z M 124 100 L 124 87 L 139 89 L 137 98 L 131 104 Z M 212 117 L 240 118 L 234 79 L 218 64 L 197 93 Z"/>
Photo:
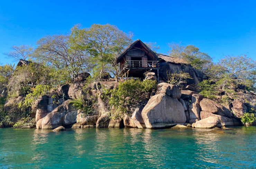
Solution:
<path fill-rule="evenodd" d="M 186 122 L 182 104 L 164 93 L 151 97 L 141 115 L 147 128 L 164 128 Z"/>

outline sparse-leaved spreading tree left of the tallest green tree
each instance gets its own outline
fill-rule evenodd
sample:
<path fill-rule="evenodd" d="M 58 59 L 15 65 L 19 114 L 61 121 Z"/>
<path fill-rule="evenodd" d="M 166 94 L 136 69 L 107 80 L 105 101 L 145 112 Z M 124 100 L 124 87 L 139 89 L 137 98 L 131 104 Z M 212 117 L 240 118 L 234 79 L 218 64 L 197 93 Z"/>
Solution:
<path fill-rule="evenodd" d="M 89 71 L 89 54 L 72 43 L 70 34 L 45 36 L 37 42 L 33 57 L 54 66 L 57 70 L 65 69 L 73 79 L 79 72 Z"/>

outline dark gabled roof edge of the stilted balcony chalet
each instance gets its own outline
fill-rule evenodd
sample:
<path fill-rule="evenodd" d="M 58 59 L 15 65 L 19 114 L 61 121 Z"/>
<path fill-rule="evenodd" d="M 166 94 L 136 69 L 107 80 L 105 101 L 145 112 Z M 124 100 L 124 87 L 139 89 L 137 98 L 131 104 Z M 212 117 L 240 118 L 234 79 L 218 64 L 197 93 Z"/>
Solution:
<path fill-rule="evenodd" d="M 125 55 L 125 53 L 127 51 L 129 51 L 132 47 L 137 46 L 137 45 L 142 46 L 142 50 L 144 50 L 146 52 L 146 54 L 150 57 L 152 57 L 153 60 L 158 60 L 157 59 L 157 55 L 155 54 L 155 52 L 153 52 L 145 43 L 143 43 L 141 40 L 137 39 L 136 41 L 132 42 L 131 44 L 129 44 L 126 49 L 124 51 L 122 51 L 122 53 L 117 57 L 117 62 L 121 62 L 122 57 Z"/>

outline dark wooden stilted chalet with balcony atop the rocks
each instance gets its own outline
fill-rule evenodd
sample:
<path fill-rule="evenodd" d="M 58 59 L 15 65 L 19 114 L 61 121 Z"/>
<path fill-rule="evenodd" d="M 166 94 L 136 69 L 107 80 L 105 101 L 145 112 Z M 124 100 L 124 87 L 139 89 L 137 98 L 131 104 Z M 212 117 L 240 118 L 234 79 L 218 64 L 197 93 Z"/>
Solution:
<path fill-rule="evenodd" d="M 159 61 L 155 52 L 137 39 L 118 56 L 117 62 L 125 78 L 143 78 L 145 72 L 155 72 L 159 81 Z"/>

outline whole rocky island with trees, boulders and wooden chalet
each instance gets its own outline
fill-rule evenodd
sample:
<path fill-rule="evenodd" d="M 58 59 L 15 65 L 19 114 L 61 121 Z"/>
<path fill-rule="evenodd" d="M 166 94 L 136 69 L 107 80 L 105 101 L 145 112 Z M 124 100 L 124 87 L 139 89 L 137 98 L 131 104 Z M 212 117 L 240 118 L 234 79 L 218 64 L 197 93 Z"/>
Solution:
<path fill-rule="evenodd" d="M 254 125 L 255 61 L 213 63 L 193 45 L 158 54 L 115 25 L 13 46 L 1 66 L 1 127 L 225 128 Z M 56 129 L 55 129 L 56 130 Z M 60 129 L 63 130 L 63 129 Z"/>

